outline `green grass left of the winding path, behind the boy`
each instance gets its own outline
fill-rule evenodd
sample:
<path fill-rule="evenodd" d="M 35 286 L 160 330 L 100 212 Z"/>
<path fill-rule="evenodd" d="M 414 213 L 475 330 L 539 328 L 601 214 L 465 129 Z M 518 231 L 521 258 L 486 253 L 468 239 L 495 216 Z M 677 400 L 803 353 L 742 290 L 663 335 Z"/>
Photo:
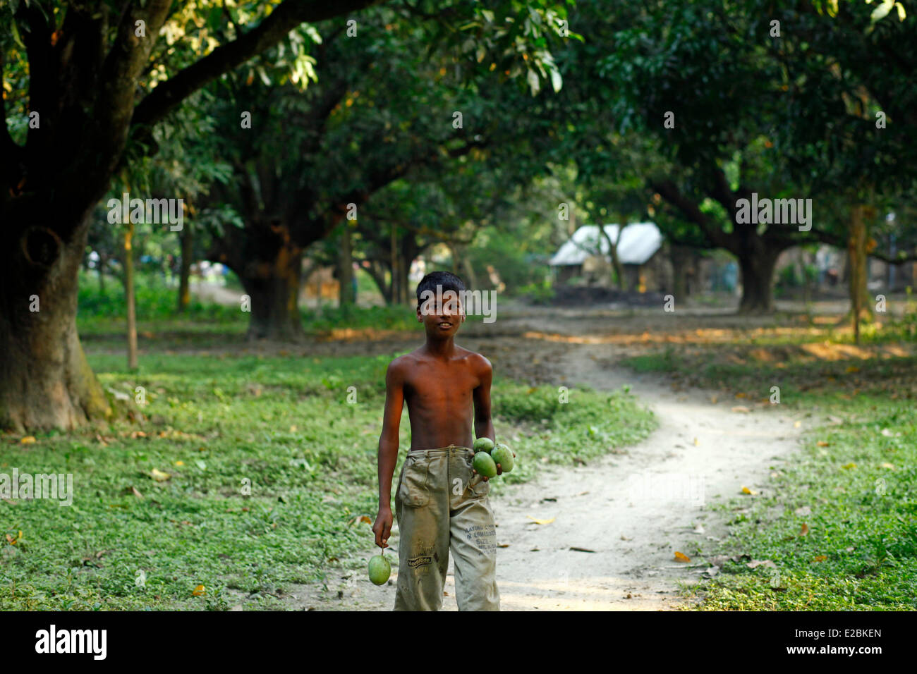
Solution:
<path fill-rule="evenodd" d="M 0 473 L 72 473 L 75 492 L 69 507 L 0 499 L 0 609 L 224 610 L 238 602 L 230 589 L 267 609 L 282 607 L 290 583 L 365 570 L 389 358 L 165 353 L 174 346 L 149 349 L 137 373 L 121 353 L 90 353 L 128 409 L 143 387 L 146 420 L 0 436 Z M 494 382 L 497 436 L 518 454 L 503 481 L 655 427 L 623 392 L 573 400 Z M 400 469 L 401 459 L 395 479 Z"/>

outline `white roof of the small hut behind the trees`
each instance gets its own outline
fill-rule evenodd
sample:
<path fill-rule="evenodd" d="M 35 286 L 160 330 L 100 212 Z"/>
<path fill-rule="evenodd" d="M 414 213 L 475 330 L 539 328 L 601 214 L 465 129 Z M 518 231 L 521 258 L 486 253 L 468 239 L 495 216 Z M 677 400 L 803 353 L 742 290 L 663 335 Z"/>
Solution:
<path fill-rule="evenodd" d="M 609 238 L 617 240 L 617 224 L 605 225 L 603 228 Z M 618 260 L 622 264 L 643 264 L 653 257 L 660 246 L 662 233 L 654 223 L 631 223 L 624 227 L 621 240 L 617 243 Z M 586 258 L 595 255 L 597 249 L 602 250 L 602 255 L 608 255 L 608 241 L 600 234 L 598 225 L 583 225 L 558 249 L 549 264 L 552 267 L 582 264 Z"/>

